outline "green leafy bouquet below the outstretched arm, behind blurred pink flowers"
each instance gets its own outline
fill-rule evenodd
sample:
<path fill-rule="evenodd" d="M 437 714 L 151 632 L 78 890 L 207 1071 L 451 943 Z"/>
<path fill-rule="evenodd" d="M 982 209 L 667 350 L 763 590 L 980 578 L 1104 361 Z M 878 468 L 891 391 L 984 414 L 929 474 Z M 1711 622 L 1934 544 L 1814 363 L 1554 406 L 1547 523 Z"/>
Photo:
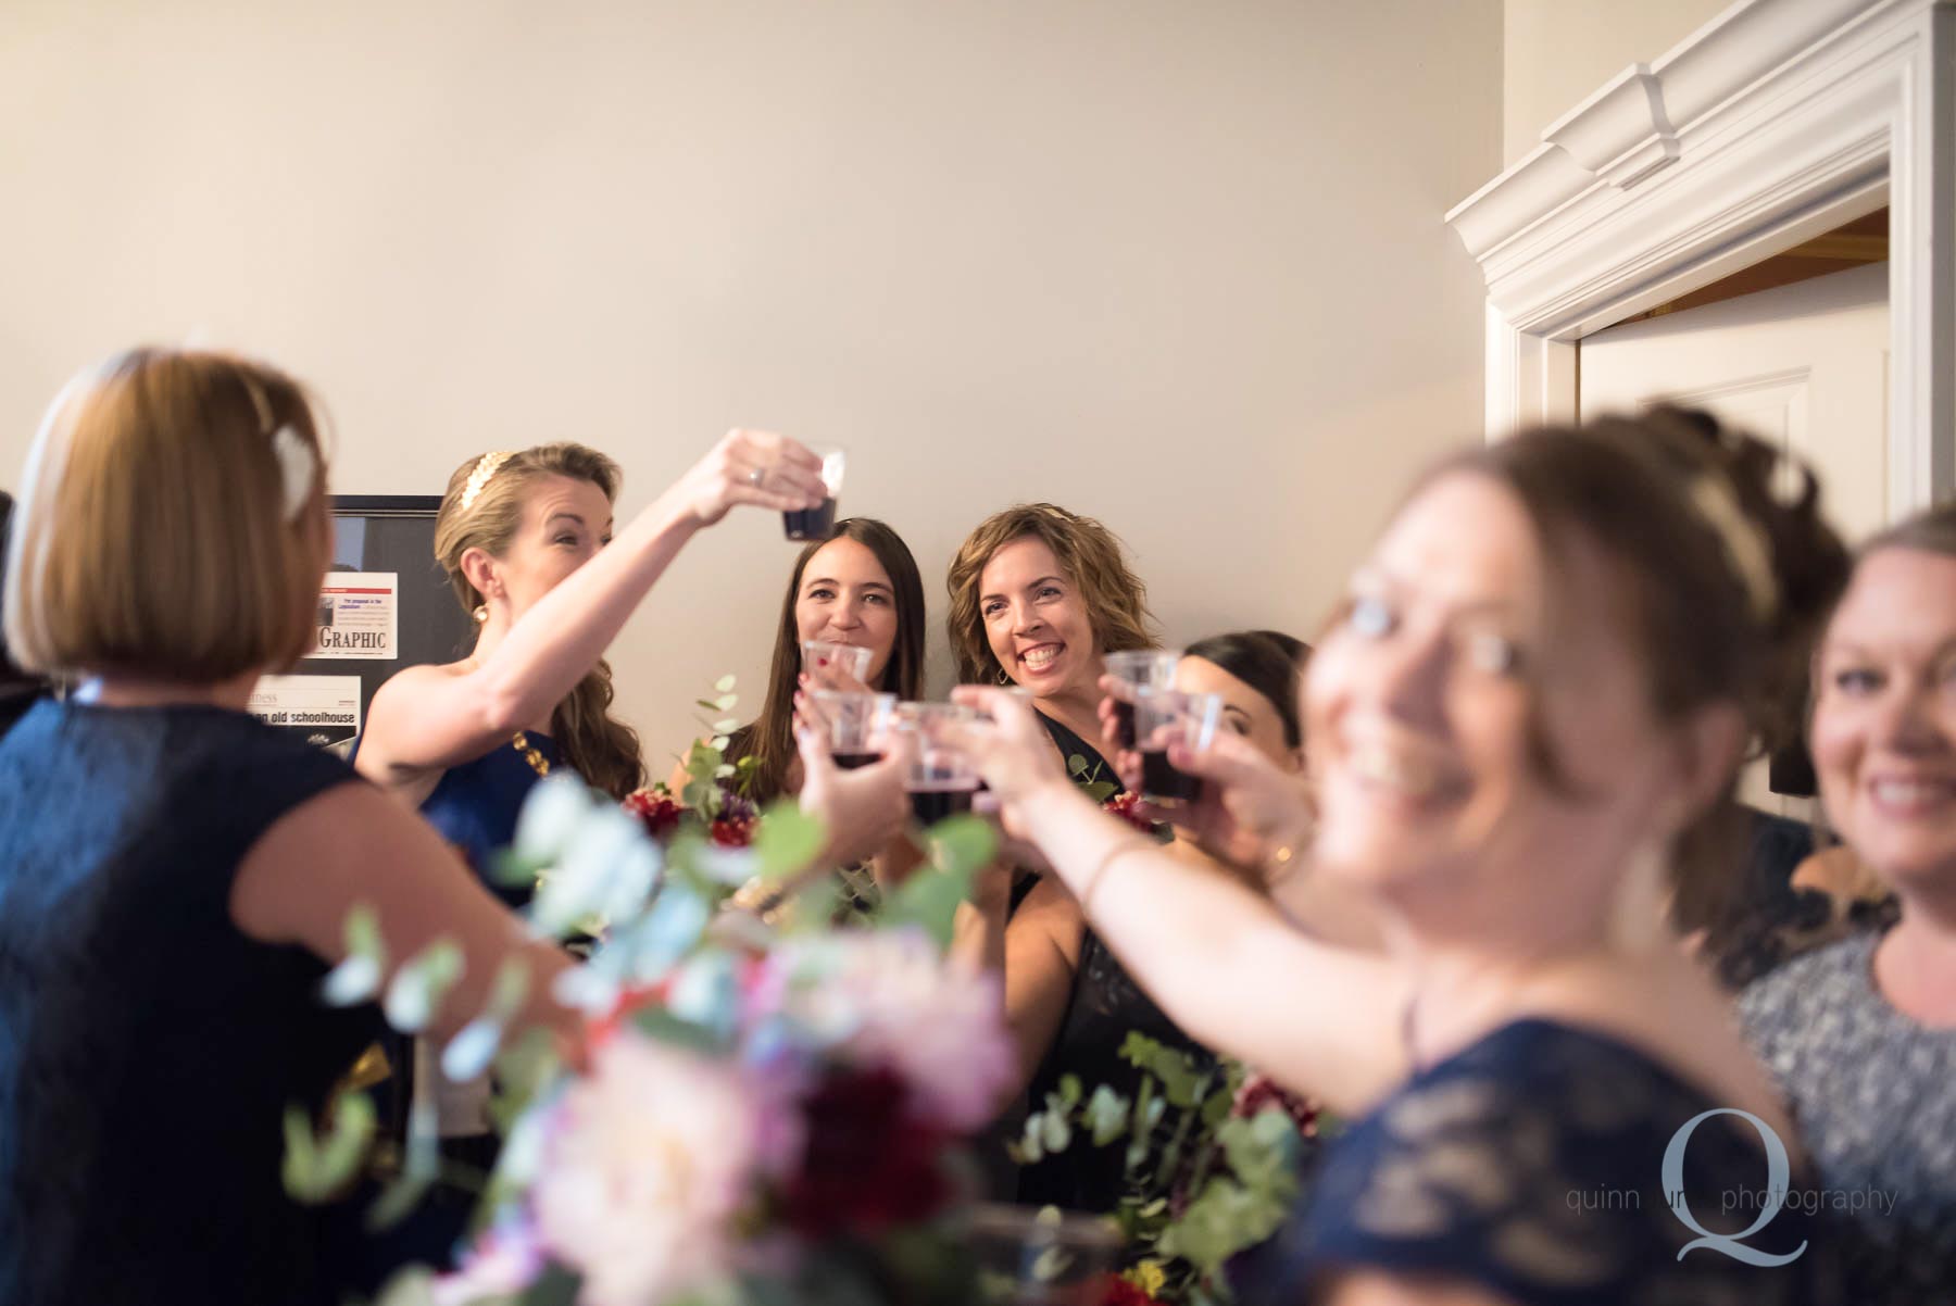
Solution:
<path fill-rule="evenodd" d="M 1305 1152 L 1328 1120 L 1240 1062 L 1195 1058 L 1129 1032 L 1121 1058 L 1142 1071 L 1131 1099 L 1086 1093 L 1066 1075 L 1011 1146 L 1021 1165 L 1074 1146 L 1123 1148 L 1115 1218 L 1127 1269 L 1109 1306 L 1232 1302 L 1226 1265 L 1271 1238 L 1297 1200 Z"/>

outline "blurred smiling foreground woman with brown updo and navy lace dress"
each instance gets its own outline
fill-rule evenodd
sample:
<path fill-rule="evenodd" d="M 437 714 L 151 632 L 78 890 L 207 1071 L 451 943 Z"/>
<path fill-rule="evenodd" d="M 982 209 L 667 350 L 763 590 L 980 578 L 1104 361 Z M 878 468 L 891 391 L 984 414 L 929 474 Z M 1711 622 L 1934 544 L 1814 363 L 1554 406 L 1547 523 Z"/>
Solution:
<path fill-rule="evenodd" d="M 962 733 L 1005 829 L 1168 1017 L 1350 1120 L 1258 1300 L 1839 1300 L 1792 1120 L 1661 917 L 1737 876 L 1739 762 L 1794 719 L 1846 579 L 1786 473 L 1665 411 L 1475 446 L 1311 657 L 1316 811 L 1232 733 L 1170 749 L 1271 860 L 1309 833 L 1307 874 L 1363 893 L 1385 952 L 1189 874 L 1084 802 L 1019 704 L 958 690 L 996 718 Z"/>

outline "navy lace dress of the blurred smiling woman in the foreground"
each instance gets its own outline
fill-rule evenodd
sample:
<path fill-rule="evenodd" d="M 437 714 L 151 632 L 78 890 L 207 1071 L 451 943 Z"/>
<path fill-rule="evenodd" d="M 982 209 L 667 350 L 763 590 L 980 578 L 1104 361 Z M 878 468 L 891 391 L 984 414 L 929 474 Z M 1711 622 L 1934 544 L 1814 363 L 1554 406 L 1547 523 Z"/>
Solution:
<path fill-rule="evenodd" d="M 1698 1234 L 1743 1234 L 1772 1198 L 1766 1146 L 1645 1054 L 1553 1021 L 1516 1021 L 1420 1071 L 1342 1134 L 1303 1220 L 1289 1284 L 1312 1300 L 1340 1271 L 1432 1275 L 1522 1306 L 1817 1306 L 1839 1302 L 1839 1247 L 1794 1171 L 1778 1212 L 1739 1238 L 1753 1265 Z M 1672 1198 L 1682 1193 L 1682 1202 Z M 1800 1251 L 1801 1243 L 1805 1249 Z M 1680 1251 L 1684 1253 L 1680 1257 Z"/>

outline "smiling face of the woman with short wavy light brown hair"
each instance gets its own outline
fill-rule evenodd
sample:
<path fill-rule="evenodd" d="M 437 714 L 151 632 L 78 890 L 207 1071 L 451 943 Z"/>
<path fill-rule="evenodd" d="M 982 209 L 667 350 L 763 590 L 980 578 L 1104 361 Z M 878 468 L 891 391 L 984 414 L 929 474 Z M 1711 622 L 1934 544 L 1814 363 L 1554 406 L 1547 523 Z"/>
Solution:
<path fill-rule="evenodd" d="M 992 655 L 1035 698 L 1091 690 L 1101 649 L 1080 587 L 1037 536 L 1001 545 L 978 573 L 978 616 Z"/>

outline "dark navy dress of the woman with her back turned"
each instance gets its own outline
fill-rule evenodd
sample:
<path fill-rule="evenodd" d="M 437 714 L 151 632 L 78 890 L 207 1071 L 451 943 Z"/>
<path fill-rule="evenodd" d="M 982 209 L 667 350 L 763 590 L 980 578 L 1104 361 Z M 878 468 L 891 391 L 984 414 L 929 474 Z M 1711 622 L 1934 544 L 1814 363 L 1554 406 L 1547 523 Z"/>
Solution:
<path fill-rule="evenodd" d="M 211 706 L 37 704 L 0 739 L 0 1302 L 336 1302 L 327 1216 L 280 1183 L 379 1030 L 327 966 L 246 938 L 264 831 L 352 782 Z"/>

